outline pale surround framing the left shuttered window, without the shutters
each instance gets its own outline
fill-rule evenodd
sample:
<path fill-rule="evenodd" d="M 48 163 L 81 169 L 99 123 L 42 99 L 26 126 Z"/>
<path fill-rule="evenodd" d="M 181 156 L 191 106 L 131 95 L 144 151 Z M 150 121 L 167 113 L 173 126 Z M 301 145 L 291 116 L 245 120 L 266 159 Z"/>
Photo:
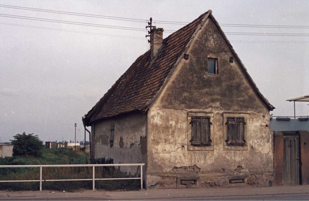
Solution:
<path fill-rule="evenodd" d="M 214 114 L 210 112 L 204 111 L 189 111 L 188 112 L 188 150 L 214 150 L 214 124 L 209 125 L 210 130 L 210 139 L 211 142 L 208 146 L 194 146 L 191 143 L 192 140 L 192 124 L 191 124 L 191 117 L 205 117 L 209 118 L 209 122 L 214 121 Z"/>

